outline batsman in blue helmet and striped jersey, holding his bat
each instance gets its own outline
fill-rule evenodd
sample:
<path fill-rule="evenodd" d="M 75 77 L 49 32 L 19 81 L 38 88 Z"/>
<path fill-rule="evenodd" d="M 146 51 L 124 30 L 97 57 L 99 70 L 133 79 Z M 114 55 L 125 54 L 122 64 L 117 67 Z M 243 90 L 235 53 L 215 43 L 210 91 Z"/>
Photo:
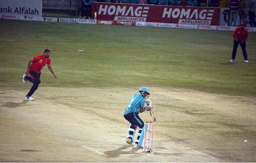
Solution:
<path fill-rule="evenodd" d="M 127 139 L 126 142 L 128 144 L 132 144 L 134 142 L 134 136 L 137 126 L 139 127 L 138 137 L 137 140 L 133 146 L 133 148 L 141 148 L 143 136 L 144 136 L 144 122 L 139 117 L 139 113 L 142 113 L 144 111 L 150 111 L 150 114 L 154 121 L 156 121 L 156 118 L 154 118 L 154 115 L 151 113 L 152 105 L 151 101 L 149 100 L 149 89 L 146 87 L 141 87 L 139 89 L 138 94 L 134 94 L 130 100 L 130 103 L 126 107 L 124 111 L 124 118 L 130 122 L 130 126 L 127 133 Z M 144 107 L 144 104 L 146 103 L 146 107 Z"/>

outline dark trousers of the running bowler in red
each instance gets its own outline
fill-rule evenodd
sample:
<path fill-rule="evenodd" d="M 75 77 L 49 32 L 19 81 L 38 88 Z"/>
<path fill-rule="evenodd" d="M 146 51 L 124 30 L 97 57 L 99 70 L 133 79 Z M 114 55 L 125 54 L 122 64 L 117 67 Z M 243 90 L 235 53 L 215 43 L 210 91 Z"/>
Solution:
<path fill-rule="evenodd" d="M 38 88 L 38 85 L 41 83 L 40 81 L 40 75 L 41 73 L 36 73 L 35 71 L 29 71 L 29 74 L 31 77 L 26 76 L 25 78 L 33 83 L 33 86 L 31 87 L 30 91 L 28 92 L 28 94 L 26 95 L 26 97 L 30 97 L 33 95 L 33 93 L 36 91 L 36 89 Z"/>

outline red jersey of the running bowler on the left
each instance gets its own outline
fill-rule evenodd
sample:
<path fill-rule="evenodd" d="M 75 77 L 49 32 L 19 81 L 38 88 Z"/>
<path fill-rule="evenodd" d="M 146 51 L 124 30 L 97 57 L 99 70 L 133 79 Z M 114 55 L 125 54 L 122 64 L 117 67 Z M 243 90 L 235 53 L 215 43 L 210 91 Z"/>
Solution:
<path fill-rule="evenodd" d="M 33 62 L 30 65 L 30 70 L 35 71 L 36 73 L 40 73 L 42 70 L 43 66 L 47 64 L 51 64 L 51 59 L 47 58 L 45 59 L 45 55 L 38 55 L 33 58 Z"/>

